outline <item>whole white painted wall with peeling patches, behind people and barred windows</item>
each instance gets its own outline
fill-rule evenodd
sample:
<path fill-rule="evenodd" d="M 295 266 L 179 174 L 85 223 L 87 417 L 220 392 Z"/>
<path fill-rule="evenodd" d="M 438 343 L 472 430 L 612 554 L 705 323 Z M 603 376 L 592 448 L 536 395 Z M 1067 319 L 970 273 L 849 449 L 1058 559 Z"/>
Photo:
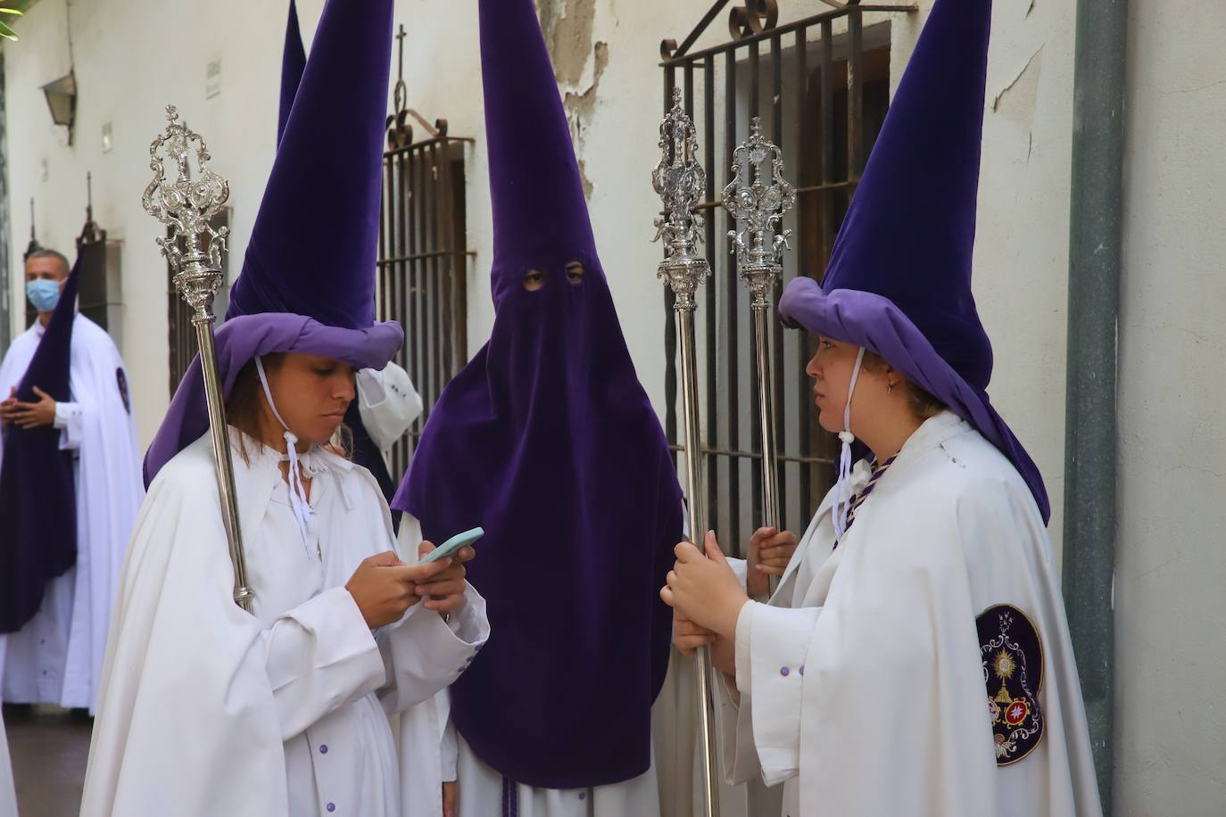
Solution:
<path fill-rule="evenodd" d="M 893 80 L 931 7 L 893 17 Z M 1042 469 L 1053 539 L 1063 519 L 1064 356 L 1074 26 L 1069 2 L 996 4 L 980 187 L 975 292 L 992 336 L 992 397 Z M 591 212 L 626 341 L 663 410 L 663 315 L 649 171 L 662 107 L 658 43 L 684 38 L 710 0 L 597 0 L 592 43 L 608 65 L 579 124 L 593 185 Z M 783 4 L 785 17 L 817 0 Z M 299 2 L 309 42 L 322 0 Z M 71 5 L 80 102 L 75 145 L 50 125 L 39 86 L 67 71 L 65 0 L 40 0 L 4 45 L 13 223 L 13 303 L 27 201 L 38 235 L 64 250 L 83 222 L 85 173 L 96 219 L 124 241 L 124 336 L 140 430 L 148 441 L 166 408 L 166 273 L 140 207 L 147 146 L 174 102 L 210 142 L 232 181 L 230 267 L 237 271 L 272 160 L 281 0 L 76 0 Z M 1121 545 L 1118 601 L 1118 813 L 1221 813 L 1226 804 L 1226 420 L 1215 354 L 1226 284 L 1211 258 L 1226 251 L 1217 190 L 1226 184 L 1220 122 L 1226 59 L 1214 32 L 1226 7 L 1197 0 L 1133 4 L 1129 44 L 1125 279 L 1121 322 Z M 1206 15 L 1211 18 L 1206 18 Z M 473 136 L 468 160 L 470 349 L 488 337 L 490 223 L 473 0 L 397 0 L 408 29 L 409 104 Z M 185 32 L 175 37 L 175 32 Z M 722 21 L 702 44 L 727 38 Z M 222 93 L 205 99 L 205 66 L 222 59 Z M 573 88 L 595 82 L 595 59 Z M 999 97 L 999 102 L 997 98 Z M 101 149 L 113 122 L 114 151 Z M 42 178 L 45 159 L 48 178 Z M 304 224 L 304 230 L 321 227 Z M 1217 318 L 1217 320 L 1215 320 Z M 20 323 L 20 321 L 16 321 Z M 15 329 L 17 327 L 15 326 Z M 1216 399 L 1215 399 L 1216 398 Z M 1172 804 L 1178 804 L 1172 807 Z"/>

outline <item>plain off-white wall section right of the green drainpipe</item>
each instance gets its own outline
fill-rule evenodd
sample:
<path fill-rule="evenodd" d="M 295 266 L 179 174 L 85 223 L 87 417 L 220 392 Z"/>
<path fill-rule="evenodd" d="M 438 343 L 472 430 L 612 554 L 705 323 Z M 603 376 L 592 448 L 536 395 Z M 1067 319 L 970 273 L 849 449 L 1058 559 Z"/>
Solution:
<path fill-rule="evenodd" d="M 1226 6 L 1129 4 L 1116 801 L 1226 813 Z"/>

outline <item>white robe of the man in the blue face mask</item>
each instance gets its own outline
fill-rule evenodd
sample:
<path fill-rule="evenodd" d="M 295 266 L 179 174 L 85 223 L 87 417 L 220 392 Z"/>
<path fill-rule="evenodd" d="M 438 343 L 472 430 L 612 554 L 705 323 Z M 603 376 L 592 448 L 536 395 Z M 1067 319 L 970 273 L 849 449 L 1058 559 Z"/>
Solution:
<path fill-rule="evenodd" d="M 9 348 L 0 399 L 21 382 L 44 332 L 36 322 Z M 119 350 L 78 314 L 71 353 L 72 401 L 56 404 L 55 427 L 60 448 L 76 454 L 77 562 L 48 584 L 38 614 L 7 636 L 7 660 L 0 648 L 0 698 L 92 709 L 124 550 L 145 489 Z"/>

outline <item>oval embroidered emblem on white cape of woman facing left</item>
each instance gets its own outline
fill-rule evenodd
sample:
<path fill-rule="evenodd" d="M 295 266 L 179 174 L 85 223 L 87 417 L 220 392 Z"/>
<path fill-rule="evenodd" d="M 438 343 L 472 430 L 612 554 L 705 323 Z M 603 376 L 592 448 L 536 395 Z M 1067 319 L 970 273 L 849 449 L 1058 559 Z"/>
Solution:
<path fill-rule="evenodd" d="M 1043 713 L 1038 708 L 1043 644 L 1026 614 L 1010 604 L 988 608 L 975 623 L 997 766 L 1009 766 L 1035 751 L 1043 739 Z"/>

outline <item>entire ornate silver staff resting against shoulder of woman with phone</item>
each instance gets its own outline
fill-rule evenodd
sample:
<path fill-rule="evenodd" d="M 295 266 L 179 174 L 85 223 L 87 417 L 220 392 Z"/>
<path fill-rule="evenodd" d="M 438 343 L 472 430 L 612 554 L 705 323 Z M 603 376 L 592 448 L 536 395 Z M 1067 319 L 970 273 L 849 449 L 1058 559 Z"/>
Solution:
<path fill-rule="evenodd" d="M 175 292 L 192 310 L 191 325 L 196 327 L 205 399 L 208 403 L 208 427 L 213 432 L 222 523 L 226 525 L 230 562 L 234 565 L 234 604 L 250 612 L 255 594 L 246 584 L 246 560 L 243 556 L 243 534 L 239 530 L 234 491 L 234 463 L 230 461 L 229 432 L 226 427 L 226 401 L 217 375 L 217 353 L 213 349 L 213 298 L 226 283 L 221 261 L 229 230 L 224 227 L 213 229 L 211 222 L 229 198 L 229 183 L 208 169 L 211 157 L 205 140 L 186 125 L 179 124 L 174 105 L 167 105 L 166 118 L 166 132 L 159 134 L 150 145 L 153 181 L 145 189 L 141 203 L 145 212 L 168 228 L 167 235 L 158 238 L 157 244 L 174 271 Z M 195 179 L 189 164 L 191 153 L 196 154 Z M 167 159 L 177 169 L 173 181 L 167 179 Z"/>

